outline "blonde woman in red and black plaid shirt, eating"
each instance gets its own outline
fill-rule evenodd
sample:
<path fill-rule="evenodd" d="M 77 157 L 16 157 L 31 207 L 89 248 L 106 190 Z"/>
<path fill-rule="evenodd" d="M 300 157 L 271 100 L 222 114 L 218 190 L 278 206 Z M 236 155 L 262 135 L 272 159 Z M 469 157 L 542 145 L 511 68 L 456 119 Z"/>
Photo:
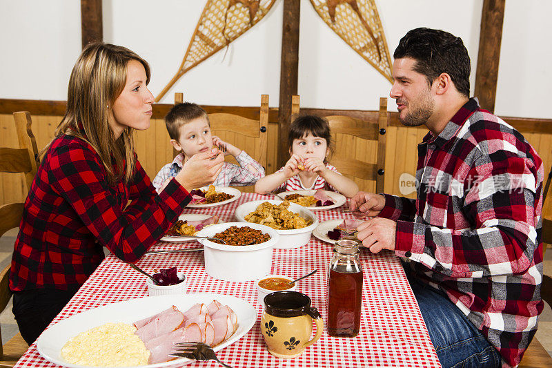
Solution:
<path fill-rule="evenodd" d="M 134 152 L 132 132 L 152 116 L 148 63 L 107 43 L 88 45 L 75 64 L 67 111 L 45 148 L 14 244 L 10 289 L 30 345 L 103 260 L 103 246 L 136 262 L 213 182 L 218 150 L 192 157 L 159 195 Z"/>

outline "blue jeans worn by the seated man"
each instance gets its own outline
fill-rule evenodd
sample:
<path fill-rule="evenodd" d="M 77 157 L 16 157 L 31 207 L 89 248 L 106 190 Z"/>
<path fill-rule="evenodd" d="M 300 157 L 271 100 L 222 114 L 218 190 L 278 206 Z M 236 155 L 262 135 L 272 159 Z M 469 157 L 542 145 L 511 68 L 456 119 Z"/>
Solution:
<path fill-rule="evenodd" d="M 413 279 L 408 282 L 443 368 L 500 367 L 500 354 L 464 313 L 444 293 Z"/>

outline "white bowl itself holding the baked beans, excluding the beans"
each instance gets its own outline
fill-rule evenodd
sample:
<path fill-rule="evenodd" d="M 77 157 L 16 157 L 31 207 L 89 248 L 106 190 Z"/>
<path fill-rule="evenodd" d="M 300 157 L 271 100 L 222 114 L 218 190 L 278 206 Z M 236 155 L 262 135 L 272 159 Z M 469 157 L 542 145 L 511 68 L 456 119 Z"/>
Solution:
<path fill-rule="evenodd" d="M 279 234 L 275 229 L 249 222 L 226 222 L 206 226 L 196 233 L 198 236 L 213 236 L 228 229 L 230 226 L 257 229 L 270 235 L 270 240 L 253 245 L 226 245 L 198 239 L 204 245 L 205 269 L 212 278 L 226 281 L 250 281 L 262 278 L 270 273 L 272 265 L 272 250 L 278 242 Z"/>

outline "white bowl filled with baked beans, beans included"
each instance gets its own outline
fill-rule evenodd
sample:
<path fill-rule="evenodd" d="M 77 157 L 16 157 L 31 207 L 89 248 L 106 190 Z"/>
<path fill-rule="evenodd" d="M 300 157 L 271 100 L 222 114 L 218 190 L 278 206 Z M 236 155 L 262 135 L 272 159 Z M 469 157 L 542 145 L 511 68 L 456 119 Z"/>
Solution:
<path fill-rule="evenodd" d="M 226 222 L 206 226 L 196 235 L 222 238 L 228 243 L 198 240 L 204 245 L 205 270 L 211 277 L 241 282 L 257 280 L 270 273 L 272 251 L 279 240 L 275 229 L 260 224 Z"/>

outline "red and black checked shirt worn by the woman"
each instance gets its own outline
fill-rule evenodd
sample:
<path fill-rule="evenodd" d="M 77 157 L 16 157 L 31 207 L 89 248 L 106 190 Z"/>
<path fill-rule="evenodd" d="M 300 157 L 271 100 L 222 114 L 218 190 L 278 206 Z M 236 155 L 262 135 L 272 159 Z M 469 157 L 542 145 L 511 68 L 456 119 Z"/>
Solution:
<path fill-rule="evenodd" d="M 176 180 L 157 195 L 138 161 L 131 182 L 110 185 L 92 146 L 76 137 L 57 137 L 25 202 L 10 289 L 78 288 L 103 260 L 102 246 L 135 262 L 190 199 Z"/>

